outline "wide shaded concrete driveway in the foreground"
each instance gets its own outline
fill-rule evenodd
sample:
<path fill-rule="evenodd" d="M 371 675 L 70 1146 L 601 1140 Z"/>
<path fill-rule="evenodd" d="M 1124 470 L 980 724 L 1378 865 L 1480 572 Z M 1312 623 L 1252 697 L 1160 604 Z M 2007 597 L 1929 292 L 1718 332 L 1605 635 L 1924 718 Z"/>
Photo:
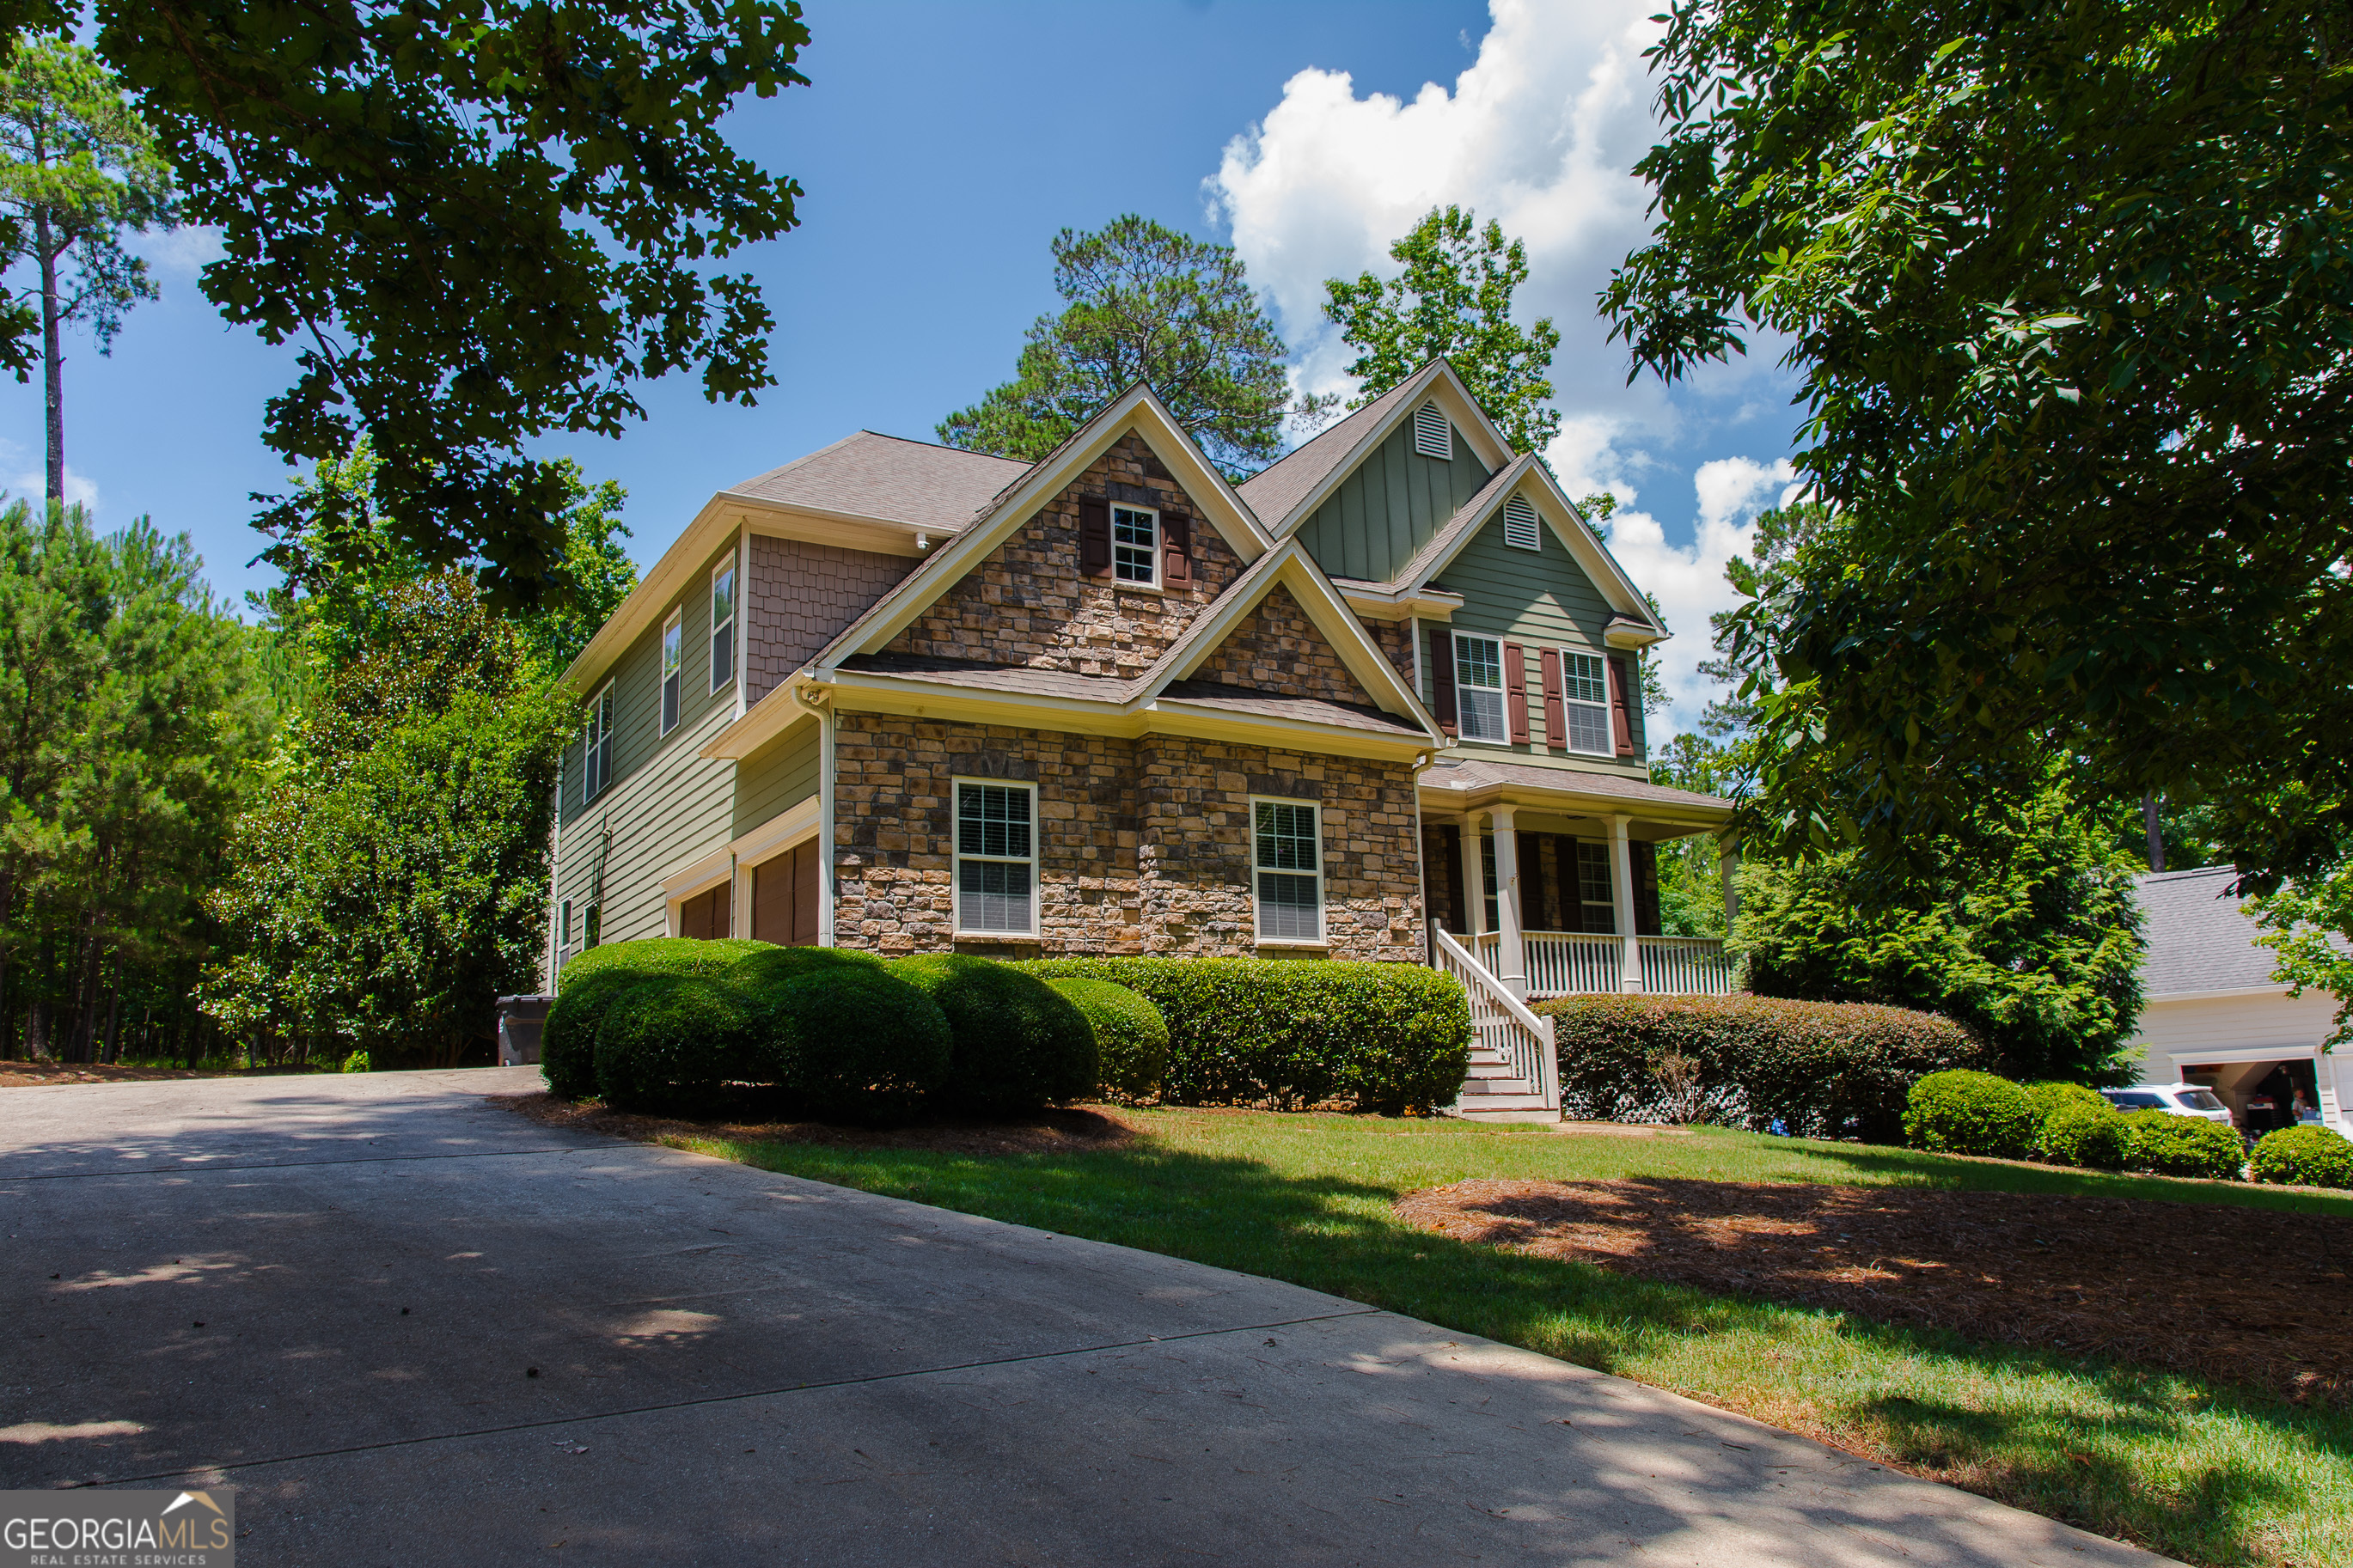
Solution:
<path fill-rule="evenodd" d="M 1358 1302 L 553 1133 L 534 1067 L 0 1091 L 0 1488 L 240 1563 L 2155 1563 Z"/>

